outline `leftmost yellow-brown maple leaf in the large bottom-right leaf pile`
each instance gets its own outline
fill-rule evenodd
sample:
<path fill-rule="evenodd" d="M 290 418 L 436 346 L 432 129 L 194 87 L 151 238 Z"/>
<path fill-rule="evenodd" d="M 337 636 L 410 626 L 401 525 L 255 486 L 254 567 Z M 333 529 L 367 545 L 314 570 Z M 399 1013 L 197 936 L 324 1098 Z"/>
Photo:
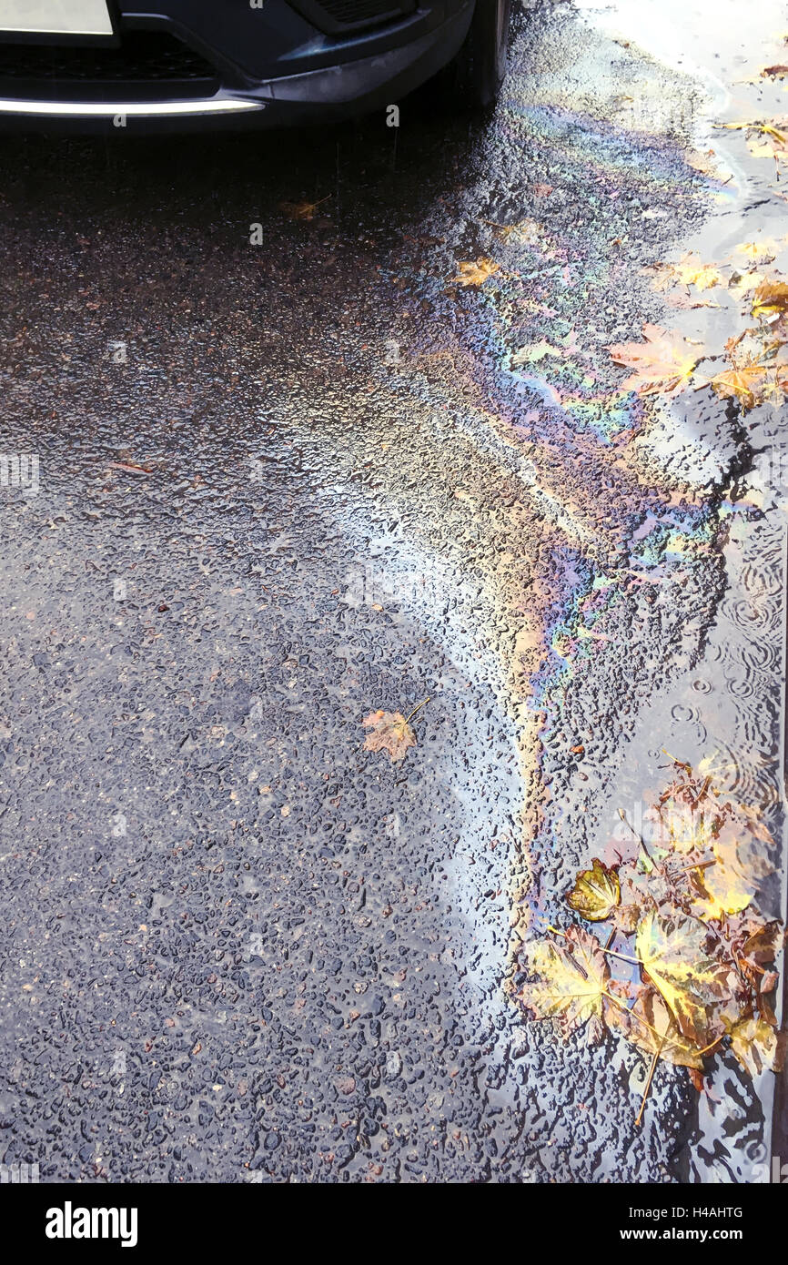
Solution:
<path fill-rule="evenodd" d="M 536 1018 L 557 1018 L 564 1036 L 587 1020 L 602 1023 L 610 968 L 596 936 L 572 926 L 563 944 L 535 940 L 526 965 L 536 979 L 524 987 L 522 1001 Z"/>

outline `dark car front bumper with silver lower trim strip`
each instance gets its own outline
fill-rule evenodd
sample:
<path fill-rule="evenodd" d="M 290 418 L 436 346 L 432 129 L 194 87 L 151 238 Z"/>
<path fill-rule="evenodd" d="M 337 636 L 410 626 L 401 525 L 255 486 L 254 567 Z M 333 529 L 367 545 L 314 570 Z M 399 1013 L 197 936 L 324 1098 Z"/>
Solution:
<path fill-rule="evenodd" d="M 385 109 L 452 61 L 476 3 L 0 0 L 0 128 L 281 126 Z M 33 25 L 27 13 L 40 24 L 47 4 L 82 29 L 8 29 Z"/>

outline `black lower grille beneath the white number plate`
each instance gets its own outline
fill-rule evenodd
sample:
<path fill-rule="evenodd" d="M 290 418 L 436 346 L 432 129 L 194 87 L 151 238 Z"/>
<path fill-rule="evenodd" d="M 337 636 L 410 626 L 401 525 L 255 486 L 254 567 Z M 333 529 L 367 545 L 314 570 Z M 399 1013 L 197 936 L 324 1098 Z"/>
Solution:
<path fill-rule="evenodd" d="M 48 44 L 0 44 L 0 82 L 18 94 L 40 92 L 43 85 L 68 95 L 70 89 L 100 90 L 104 85 L 129 89 L 173 85 L 186 94 L 210 91 L 218 82 L 216 67 L 180 39 L 158 32 L 129 32 L 119 48 Z M 92 94 L 91 94 L 92 95 Z"/>

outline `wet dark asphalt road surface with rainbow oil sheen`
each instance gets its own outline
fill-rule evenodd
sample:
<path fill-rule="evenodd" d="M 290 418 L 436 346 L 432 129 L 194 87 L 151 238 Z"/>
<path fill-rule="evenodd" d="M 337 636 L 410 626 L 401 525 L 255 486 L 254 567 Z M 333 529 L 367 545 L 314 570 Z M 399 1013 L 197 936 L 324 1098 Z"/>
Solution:
<path fill-rule="evenodd" d="M 643 717 L 729 583 L 751 433 L 706 396 L 644 455 L 606 350 L 721 214 L 688 161 L 708 96 L 545 4 L 492 119 L 425 92 L 398 129 L 0 142 L 3 450 L 40 460 L 0 490 L 4 1163 L 692 1175 L 680 1070 L 635 1127 L 636 1051 L 512 993 L 534 911 L 658 775 Z M 515 366 L 543 339 L 557 369 Z M 616 601 L 572 665 L 581 582 Z M 428 697 L 403 763 L 363 750 Z"/>

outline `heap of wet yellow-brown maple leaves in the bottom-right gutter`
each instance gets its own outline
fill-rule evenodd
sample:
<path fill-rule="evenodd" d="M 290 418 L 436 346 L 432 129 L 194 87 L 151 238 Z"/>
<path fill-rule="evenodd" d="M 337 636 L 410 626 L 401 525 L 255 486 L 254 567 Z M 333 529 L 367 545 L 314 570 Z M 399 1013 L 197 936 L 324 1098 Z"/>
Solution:
<path fill-rule="evenodd" d="M 702 1088 L 706 1060 L 723 1047 L 751 1077 L 778 1071 L 774 960 L 784 935 L 758 908 L 769 831 L 678 760 L 649 816 L 655 841 L 632 831 L 631 859 L 594 858 L 565 896 L 584 922 L 607 925 L 607 937 L 573 923 L 530 942 L 525 1006 L 564 1037 L 584 1026 L 589 1044 L 617 1034 L 650 1055 L 646 1093 L 659 1059 L 688 1068 Z"/>

